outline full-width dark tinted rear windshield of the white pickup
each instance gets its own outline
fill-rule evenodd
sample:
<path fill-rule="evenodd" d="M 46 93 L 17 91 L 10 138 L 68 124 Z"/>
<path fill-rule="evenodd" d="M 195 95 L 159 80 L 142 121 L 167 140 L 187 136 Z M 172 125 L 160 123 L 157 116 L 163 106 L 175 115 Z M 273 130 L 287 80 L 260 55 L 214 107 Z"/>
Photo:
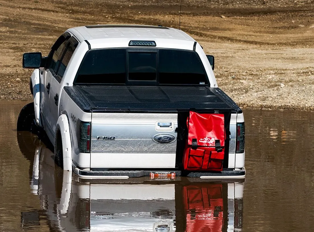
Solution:
<path fill-rule="evenodd" d="M 87 52 L 75 84 L 208 85 L 208 81 L 196 52 L 103 49 Z"/>

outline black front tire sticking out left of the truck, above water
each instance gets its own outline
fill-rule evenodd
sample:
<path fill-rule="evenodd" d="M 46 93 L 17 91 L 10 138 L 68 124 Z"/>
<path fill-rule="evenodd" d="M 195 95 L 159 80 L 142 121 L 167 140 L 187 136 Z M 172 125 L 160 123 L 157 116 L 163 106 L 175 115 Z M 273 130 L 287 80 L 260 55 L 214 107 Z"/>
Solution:
<path fill-rule="evenodd" d="M 34 103 L 28 103 L 25 105 L 19 113 L 17 131 L 30 131 L 35 135 L 39 135 L 43 129 L 35 123 L 35 109 Z"/>

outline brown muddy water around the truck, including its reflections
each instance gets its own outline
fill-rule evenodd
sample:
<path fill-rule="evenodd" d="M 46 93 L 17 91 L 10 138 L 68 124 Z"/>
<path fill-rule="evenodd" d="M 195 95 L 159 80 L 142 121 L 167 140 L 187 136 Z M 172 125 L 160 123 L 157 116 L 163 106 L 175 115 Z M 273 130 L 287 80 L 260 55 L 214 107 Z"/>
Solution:
<path fill-rule="evenodd" d="M 0 102 L 0 231 L 312 231 L 314 113 L 244 110 L 246 180 L 84 183 Z M 210 228 L 210 229 L 208 229 Z"/>

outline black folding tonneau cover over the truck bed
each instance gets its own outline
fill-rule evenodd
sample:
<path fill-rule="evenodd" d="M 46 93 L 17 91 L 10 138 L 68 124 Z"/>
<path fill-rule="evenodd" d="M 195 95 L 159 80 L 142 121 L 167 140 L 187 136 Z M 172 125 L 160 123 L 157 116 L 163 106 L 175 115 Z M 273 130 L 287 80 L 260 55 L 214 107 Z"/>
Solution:
<path fill-rule="evenodd" d="M 208 86 L 65 86 L 84 112 L 241 109 L 219 88 Z"/>

